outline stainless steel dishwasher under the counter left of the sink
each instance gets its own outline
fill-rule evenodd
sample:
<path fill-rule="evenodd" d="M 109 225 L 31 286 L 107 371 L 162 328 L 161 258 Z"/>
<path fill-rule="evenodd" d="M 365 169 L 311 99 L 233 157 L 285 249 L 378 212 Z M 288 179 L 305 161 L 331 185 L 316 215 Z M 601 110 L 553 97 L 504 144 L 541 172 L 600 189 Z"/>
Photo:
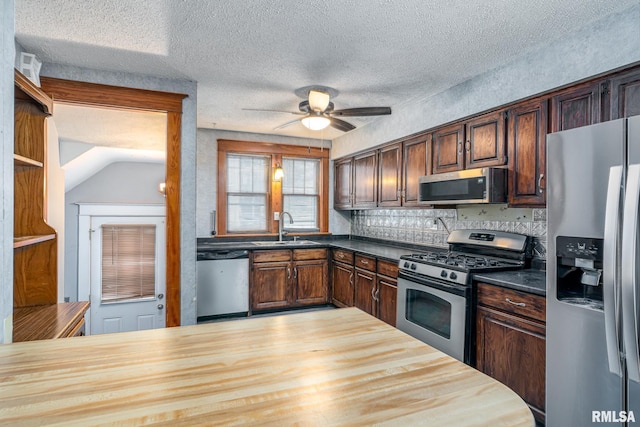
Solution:
<path fill-rule="evenodd" d="M 249 252 L 198 252 L 198 321 L 243 315 L 249 311 Z"/>

